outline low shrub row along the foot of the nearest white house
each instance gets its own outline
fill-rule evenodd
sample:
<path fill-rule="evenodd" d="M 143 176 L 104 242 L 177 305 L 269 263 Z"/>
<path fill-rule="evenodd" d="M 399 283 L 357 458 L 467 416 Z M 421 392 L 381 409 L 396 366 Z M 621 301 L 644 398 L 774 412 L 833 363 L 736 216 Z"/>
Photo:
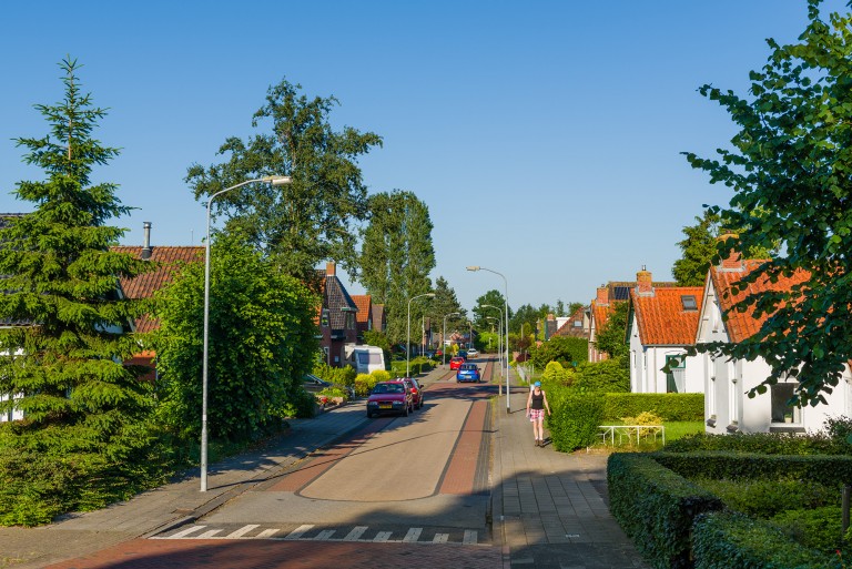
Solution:
<path fill-rule="evenodd" d="M 784 433 L 753 433 L 748 435 L 688 435 L 666 445 L 668 453 L 694 450 L 732 450 L 764 455 L 844 455 L 849 446 L 825 435 L 791 435 Z"/>

